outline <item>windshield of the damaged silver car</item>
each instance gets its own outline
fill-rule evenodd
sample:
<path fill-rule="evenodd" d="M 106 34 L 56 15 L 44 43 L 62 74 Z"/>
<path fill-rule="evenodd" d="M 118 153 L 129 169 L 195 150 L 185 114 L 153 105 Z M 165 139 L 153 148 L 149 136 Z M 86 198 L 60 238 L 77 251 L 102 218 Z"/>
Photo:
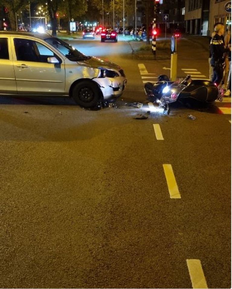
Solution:
<path fill-rule="evenodd" d="M 83 61 L 91 58 L 91 56 L 85 56 L 70 44 L 56 37 L 47 38 L 45 41 L 55 47 L 58 51 L 60 51 L 60 53 L 71 61 Z"/>

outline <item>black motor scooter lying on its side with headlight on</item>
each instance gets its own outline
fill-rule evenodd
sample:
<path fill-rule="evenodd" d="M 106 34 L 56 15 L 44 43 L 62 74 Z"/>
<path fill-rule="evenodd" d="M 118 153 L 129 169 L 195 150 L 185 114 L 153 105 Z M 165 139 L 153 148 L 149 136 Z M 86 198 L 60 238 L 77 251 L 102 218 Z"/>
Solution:
<path fill-rule="evenodd" d="M 218 87 L 208 80 L 192 80 L 191 75 L 179 81 L 169 81 L 167 75 L 159 75 L 155 84 L 147 82 L 145 92 L 153 102 L 170 113 L 169 103 L 180 101 L 182 103 L 195 100 L 200 103 L 214 103 L 219 98 Z"/>

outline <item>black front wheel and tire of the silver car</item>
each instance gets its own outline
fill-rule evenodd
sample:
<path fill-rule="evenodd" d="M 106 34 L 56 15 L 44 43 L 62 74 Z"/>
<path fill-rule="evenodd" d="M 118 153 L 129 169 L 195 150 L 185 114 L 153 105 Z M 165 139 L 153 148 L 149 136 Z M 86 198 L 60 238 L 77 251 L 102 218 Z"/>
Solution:
<path fill-rule="evenodd" d="M 79 106 L 95 107 L 101 98 L 100 88 L 93 81 L 83 80 L 73 88 L 72 97 Z"/>

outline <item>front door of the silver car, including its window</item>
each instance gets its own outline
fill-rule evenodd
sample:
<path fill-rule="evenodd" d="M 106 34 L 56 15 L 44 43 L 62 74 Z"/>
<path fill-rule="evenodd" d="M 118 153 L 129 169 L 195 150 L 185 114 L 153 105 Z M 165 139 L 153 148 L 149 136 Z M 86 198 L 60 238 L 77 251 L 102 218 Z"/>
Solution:
<path fill-rule="evenodd" d="M 65 64 L 43 41 L 13 37 L 14 71 L 18 94 L 55 95 L 65 92 Z M 56 57 L 59 64 L 48 63 Z"/>

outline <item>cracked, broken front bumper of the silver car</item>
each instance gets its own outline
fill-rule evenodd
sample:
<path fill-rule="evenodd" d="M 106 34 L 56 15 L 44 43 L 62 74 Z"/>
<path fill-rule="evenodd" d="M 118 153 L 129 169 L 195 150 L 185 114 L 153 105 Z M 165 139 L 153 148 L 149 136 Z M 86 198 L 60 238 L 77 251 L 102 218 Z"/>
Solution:
<path fill-rule="evenodd" d="M 127 83 L 127 79 L 123 76 L 115 78 L 93 78 L 92 80 L 99 85 L 102 96 L 105 100 L 120 97 Z"/>

